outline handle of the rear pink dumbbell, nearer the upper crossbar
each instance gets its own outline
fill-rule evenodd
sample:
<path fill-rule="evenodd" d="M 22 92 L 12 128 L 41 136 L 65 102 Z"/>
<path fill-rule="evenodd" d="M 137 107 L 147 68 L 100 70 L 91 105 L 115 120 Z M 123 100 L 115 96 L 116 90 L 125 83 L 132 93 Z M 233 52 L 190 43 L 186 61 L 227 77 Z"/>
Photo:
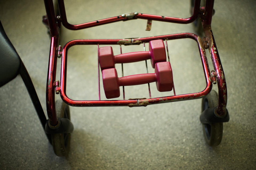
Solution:
<path fill-rule="evenodd" d="M 114 56 L 115 63 L 133 63 L 151 59 L 149 51 L 124 53 Z"/>

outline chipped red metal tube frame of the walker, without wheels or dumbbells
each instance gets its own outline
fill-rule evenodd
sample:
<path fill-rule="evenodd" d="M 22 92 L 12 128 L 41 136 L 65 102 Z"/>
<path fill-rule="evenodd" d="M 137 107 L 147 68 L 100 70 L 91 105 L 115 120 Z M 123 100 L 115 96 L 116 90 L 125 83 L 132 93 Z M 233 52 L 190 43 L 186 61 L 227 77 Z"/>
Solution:
<path fill-rule="evenodd" d="M 47 86 L 46 86 L 46 105 L 47 105 L 47 114 L 49 118 L 49 122 L 51 126 L 56 126 L 58 124 L 58 119 L 55 111 L 55 92 L 60 92 L 61 98 L 65 103 L 71 106 L 146 106 L 149 104 L 158 104 L 158 103 L 166 103 L 173 101 L 182 101 L 182 100 L 190 100 L 190 99 L 198 99 L 206 96 L 212 89 L 213 81 L 217 81 L 218 85 L 218 107 L 216 114 L 219 117 L 226 115 L 226 104 L 227 104 L 227 87 L 225 76 L 223 72 L 223 68 L 221 65 L 221 61 L 219 58 L 219 53 L 217 50 L 217 46 L 214 41 L 213 33 L 211 31 L 211 19 L 213 14 L 213 5 L 214 0 L 207 0 L 205 7 L 200 8 L 200 0 L 195 0 L 194 3 L 194 13 L 190 18 L 173 18 L 167 16 L 160 15 L 150 15 L 150 14 L 141 14 L 141 13 L 130 13 L 123 14 L 120 16 L 114 16 L 111 18 L 101 19 L 97 21 L 87 22 L 83 24 L 72 25 L 67 22 L 65 6 L 63 0 L 58 0 L 60 16 L 55 16 L 53 1 L 52 0 L 44 0 L 45 8 L 47 13 L 47 20 L 50 29 L 51 35 L 51 44 L 50 44 L 50 56 L 49 56 L 49 67 L 47 74 Z M 147 19 L 147 20 L 157 20 L 163 22 L 171 22 L 171 23 L 180 23 L 180 24 L 188 24 L 194 22 L 198 16 L 202 19 L 202 25 L 205 33 L 205 40 L 209 45 L 209 52 L 211 55 L 211 60 L 214 66 L 214 71 L 210 72 L 206 53 L 206 48 L 208 45 L 205 45 L 205 40 L 203 41 L 199 36 L 192 33 L 178 33 L 171 35 L 162 35 L 155 37 L 146 37 L 146 38 L 136 38 L 136 39 L 98 39 L 98 40 L 72 40 L 68 42 L 62 49 L 59 48 L 59 29 L 58 25 L 60 23 L 63 24 L 64 27 L 71 30 L 84 29 L 89 27 L 95 27 L 102 24 L 108 24 L 118 21 L 125 21 L 130 19 Z M 191 94 L 183 94 L 183 95 L 174 95 L 167 97 L 157 97 L 157 98 L 149 98 L 149 99 L 133 99 L 133 100 L 82 100 L 76 101 L 69 99 L 66 95 L 66 76 L 67 76 L 67 51 L 71 46 L 74 45 L 126 45 L 130 43 L 141 44 L 148 43 L 151 40 L 162 39 L 162 40 L 174 40 L 174 39 L 184 39 L 190 38 L 197 42 L 199 53 L 201 56 L 203 71 L 206 80 L 206 87 L 201 92 L 191 93 Z M 207 44 L 206 43 L 206 44 Z M 167 42 L 166 48 L 168 52 Z M 62 63 L 61 63 L 61 80 L 60 83 L 56 81 L 56 69 L 57 69 L 57 56 L 62 53 Z M 99 64 L 98 64 L 99 70 Z M 99 75 L 99 74 L 98 74 Z M 100 96 L 100 95 L 99 95 Z"/>

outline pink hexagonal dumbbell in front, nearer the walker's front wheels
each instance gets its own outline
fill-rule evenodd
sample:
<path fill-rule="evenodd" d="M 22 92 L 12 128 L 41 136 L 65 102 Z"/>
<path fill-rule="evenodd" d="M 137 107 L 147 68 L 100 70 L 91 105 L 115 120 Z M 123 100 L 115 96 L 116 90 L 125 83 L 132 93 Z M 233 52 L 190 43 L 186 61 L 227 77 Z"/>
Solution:
<path fill-rule="evenodd" d="M 160 92 L 173 89 L 173 73 L 169 62 L 158 62 L 155 64 L 155 73 L 136 74 L 118 78 L 115 68 L 102 70 L 102 79 L 107 99 L 120 96 L 119 86 L 134 86 L 156 82 L 157 90 Z"/>

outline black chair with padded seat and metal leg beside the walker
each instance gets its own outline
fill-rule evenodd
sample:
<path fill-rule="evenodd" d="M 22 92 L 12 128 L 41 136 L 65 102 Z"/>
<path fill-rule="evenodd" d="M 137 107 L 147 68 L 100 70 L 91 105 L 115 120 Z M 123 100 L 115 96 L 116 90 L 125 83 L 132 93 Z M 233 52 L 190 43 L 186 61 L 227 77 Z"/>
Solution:
<path fill-rule="evenodd" d="M 1 21 L 0 32 L 0 87 L 20 74 L 27 88 L 27 91 L 29 92 L 30 99 L 35 107 L 37 116 L 42 124 L 42 128 L 45 130 L 47 119 L 45 117 L 45 113 L 43 112 L 42 105 L 38 99 L 35 87 L 31 81 L 25 65 L 21 61 L 21 58 L 16 52 L 13 44 L 11 44 L 11 41 L 7 37 Z M 51 134 L 46 134 L 46 136 L 51 143 Z"/>

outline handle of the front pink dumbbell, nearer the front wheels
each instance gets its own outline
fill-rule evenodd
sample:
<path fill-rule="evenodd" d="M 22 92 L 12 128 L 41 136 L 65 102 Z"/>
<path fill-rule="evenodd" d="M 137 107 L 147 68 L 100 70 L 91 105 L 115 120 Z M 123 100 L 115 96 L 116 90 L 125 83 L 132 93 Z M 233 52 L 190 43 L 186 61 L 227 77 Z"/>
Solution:
<path fill-rule="evenodd" d="M 157 81 L 155 73 L 136 74 L 118 78 L 119 86 L 134 86 Z"/>

